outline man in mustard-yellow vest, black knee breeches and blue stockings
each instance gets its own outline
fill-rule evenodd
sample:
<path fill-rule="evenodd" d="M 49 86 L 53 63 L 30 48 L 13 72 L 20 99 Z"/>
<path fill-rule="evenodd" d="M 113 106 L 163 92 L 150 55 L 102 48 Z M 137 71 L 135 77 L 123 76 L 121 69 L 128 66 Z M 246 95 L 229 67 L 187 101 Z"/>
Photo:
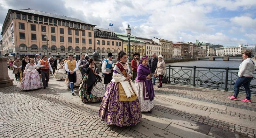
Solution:
<path fill-rule="evenodd" d="M 65 64 L 65 70 L 68 72 L 68 80 L 72 95 L 74 95 L 74 83 L 76 83 L 76 71 L 78 70 L 78 63 L 73 60 L 73 55 L 68 55 L 68 61 Z"/>

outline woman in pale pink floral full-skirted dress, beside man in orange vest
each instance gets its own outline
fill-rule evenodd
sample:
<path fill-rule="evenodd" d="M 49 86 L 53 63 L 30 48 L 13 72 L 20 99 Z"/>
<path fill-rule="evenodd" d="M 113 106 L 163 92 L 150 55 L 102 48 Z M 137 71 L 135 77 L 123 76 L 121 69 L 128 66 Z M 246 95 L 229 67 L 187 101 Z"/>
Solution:
<path fill-rule="evenodd" d="M 20 83 L 20 88 L 22 90 L 34 90 L 42 88 L 42 80 L 40 79 L 40 75 L 37 72 L 36 69 L 38 67 L 36 66 L 34 59 L 29 59 L 29 62 L 23 72 L 23 77 Z"/>

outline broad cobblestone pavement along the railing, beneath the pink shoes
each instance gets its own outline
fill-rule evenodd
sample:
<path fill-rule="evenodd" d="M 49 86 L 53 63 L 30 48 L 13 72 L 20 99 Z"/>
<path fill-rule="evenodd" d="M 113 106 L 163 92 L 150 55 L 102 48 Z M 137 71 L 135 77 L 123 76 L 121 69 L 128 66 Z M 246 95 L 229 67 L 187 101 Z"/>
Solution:
<path fill-rule="evenodd" d="M 256 95 L 251 95 L 252 103 L 246 103 L 239 100 L 236 101 L 228 99 L 228 96 L 231 96 L 233 93 L 212 89 L 164 84 L 162 88 L 154 86 L 154 90 L 158 93 L 256 111 Z M 245 94 L 239 93 L 238 99 L 244 98 Z"/>

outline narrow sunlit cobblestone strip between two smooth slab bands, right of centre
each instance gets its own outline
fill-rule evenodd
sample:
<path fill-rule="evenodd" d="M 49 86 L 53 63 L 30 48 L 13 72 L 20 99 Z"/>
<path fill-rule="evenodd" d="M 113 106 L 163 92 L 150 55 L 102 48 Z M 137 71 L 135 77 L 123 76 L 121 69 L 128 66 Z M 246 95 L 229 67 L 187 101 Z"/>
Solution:
<path fill-rule="evenodd" d="M 256 117 L 255 116 L 250 116 L 250 115 L 247 115 L 247 114 L 240 114 L 240 113 L 236 113 L 236 112 L 230 112 L 230 111 L 227 111 L 227 110 L 222 110 L 222 109 L 213 108 L 213 107 L 207 107 L 207 106 L 204 106 L 204 105 L 193 104 L 193 103 L 180 101 L 180 100 L 174 100 L 174 99 L 170 99 L 170 98 L 164 98 L 164 97 L 161 97 L 161 96 L 155 96 L 154 98 L 159 99 L 161 101 L 166 101 L 166 102 L 169 102 L 169 103 L 174 103 L 174 104 L 178 104 L 178 105 L 182 105 L 182 106 L 186 106 L 186 107 L 192 107 L 192 108 L 196 108 L 196 109 L 199 109 L 199 110 L 213 112 L 213 113 L 217 113 L 217 114 L 224 114 L 224 115 L 227 115 L 227 116 L 231 116 L 231 117 L 235 117 L 235 118 L 239 118 L 239 119 L 244 119 L 246 121 L 256 122 Z"/>

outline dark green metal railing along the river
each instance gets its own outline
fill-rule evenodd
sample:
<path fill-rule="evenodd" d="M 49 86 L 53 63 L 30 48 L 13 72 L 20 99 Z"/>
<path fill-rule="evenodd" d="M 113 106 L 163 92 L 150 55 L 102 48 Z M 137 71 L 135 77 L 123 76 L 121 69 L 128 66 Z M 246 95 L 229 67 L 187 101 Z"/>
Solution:
<path fill-rule="evenodd" d="M 198 66 L 166 66 L 168 83 L 207 87 L 225 91 L 234 91 L 239 68 L 198 67 Z M 256 72 L 250 84 L 251 93 L 256 94 Z M 157 79 L 158 80 L 158 79 Z M 245 92 L 240 87 L 240 92 Z"/>

